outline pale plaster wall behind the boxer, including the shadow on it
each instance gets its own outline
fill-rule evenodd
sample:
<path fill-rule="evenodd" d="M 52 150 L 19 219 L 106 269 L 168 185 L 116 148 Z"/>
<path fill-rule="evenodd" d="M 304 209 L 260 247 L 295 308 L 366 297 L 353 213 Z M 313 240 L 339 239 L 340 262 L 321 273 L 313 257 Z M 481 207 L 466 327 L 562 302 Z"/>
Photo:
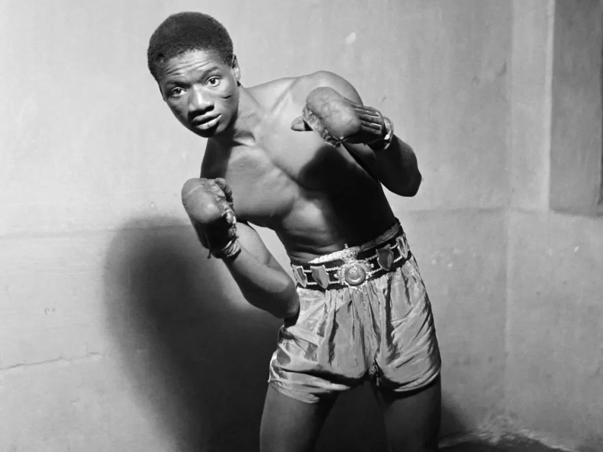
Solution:
<path fill-rule="evenodd" d="M 600 450 L 598 0 L 2 2 L 0 450 L 256 446 L 279 322 L 195 241 L 180 187 L 204 142 L 146 69 L 182 10 L 226 25 L 245 85 L 336 72 L 415 148 L 420 193 L 390 200 L 434 304 L 442 434 Z M 319 450 L 380 433 L 363 388 Z"/>

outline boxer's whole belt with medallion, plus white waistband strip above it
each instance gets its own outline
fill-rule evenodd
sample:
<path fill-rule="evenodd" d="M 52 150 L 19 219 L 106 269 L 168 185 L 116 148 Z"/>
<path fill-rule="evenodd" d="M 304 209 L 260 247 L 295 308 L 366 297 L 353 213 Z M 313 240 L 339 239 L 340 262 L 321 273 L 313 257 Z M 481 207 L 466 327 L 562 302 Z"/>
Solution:
<path fill-rule="evenodd" d="M 394 271 L 411 253 L 399 222 L 379 237 L 362 245 L 346 247 L 310 262 L 291 262 L 297 284 L 327 290 L 362 287 L 370 280 Z"/>

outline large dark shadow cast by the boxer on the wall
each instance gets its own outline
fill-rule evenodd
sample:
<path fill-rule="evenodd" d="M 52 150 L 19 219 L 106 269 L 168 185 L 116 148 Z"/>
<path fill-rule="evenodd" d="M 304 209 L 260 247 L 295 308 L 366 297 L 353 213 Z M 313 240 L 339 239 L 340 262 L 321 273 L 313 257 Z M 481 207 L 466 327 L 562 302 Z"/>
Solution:
<path fill-rule="evenodd" d="M 107 250 L 107 324 L 125 376 L 178 451 L 256 451 L 280 321 L 242 300 L 188 224 L 152 225 L 131 221 Z M 446 406 L 443 415 L 447 433 L 464 430 Z M 339 397 L 317 452 L 382 452 L 383 437 L 363 386 Z"/>

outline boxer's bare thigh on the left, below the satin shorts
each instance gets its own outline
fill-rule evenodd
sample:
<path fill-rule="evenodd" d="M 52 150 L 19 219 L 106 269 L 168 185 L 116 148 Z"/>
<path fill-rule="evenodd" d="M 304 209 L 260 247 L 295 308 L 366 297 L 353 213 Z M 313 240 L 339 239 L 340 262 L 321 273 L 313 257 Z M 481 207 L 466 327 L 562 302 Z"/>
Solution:
<path fill-rule="evenodd" d="M 310 452 L 335 397 L 305 403 L 268 385 L 260 427 L 260 452 Z"/>

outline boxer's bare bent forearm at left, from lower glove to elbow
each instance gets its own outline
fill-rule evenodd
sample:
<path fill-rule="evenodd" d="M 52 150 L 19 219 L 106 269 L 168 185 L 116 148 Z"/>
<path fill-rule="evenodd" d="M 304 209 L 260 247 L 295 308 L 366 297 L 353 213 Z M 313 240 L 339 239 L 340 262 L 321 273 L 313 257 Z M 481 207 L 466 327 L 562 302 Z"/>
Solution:
<path fill-rule="evenodd" d="M 297 314 L 299 300 L 295 283 L 268 251 L 259 234 L 245 223 L 237 223 L 241 253 L 223 259 L 245 300 L 278 318 Z"/>

